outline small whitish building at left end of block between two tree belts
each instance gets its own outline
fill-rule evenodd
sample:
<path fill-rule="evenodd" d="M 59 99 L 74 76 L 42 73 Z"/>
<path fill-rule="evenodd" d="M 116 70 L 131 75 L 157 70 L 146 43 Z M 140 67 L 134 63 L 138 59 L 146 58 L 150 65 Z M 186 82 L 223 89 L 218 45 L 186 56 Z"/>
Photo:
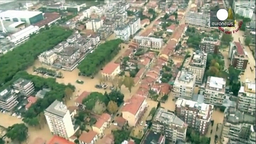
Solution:
<path fill-rule="evenodd" d="M 58 58 L 57 54 L 53 50 L 44 51 L 38 56 L 38 60 L 42 65 L 51 66 Z"/>

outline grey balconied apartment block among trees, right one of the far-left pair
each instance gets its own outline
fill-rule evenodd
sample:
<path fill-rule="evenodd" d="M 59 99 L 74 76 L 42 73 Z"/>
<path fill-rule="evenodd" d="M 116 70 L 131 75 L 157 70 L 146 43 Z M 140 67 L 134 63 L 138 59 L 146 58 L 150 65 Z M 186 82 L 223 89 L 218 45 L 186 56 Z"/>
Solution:
<path fill-rule="evenodd" d="M 19 78 L 13 82 L 12 87 L 25 96 L 30 96 L 35 91 L 33 82 L 23 78 Z"/>

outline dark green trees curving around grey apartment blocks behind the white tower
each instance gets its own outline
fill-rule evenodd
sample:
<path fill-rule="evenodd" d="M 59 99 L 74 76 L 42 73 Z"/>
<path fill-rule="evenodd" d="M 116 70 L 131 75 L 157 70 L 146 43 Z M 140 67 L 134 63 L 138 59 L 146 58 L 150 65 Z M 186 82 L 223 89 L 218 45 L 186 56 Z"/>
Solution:
<path fill-rule="evenodd" d="M 64 85 L 56 82 L 54 78 L 42 78 L 40 76 L 29 75 L 25 71 L 20 71 L 13 76 L 13 79 L 6 84 L 2 88 L 8 87 L 18 78 L 30 79 L 35 86 L 35 91 L 39 91 L 42 88 L 50 88 L 50 92 L 46 93 L 44 98 L 40 98 L 37 100 L 35 104 L 22 113 L 24 119 L 22 119 L 25 123 L 30 126 L 41 126 L 39 124 L 45 123 L 45 117 L 43 111 L 53 103 L 54 100 L 63 101 L 66 99 L 70 99 L 73 91 L 75 91 L 75 87 L 71 84 Z"/>

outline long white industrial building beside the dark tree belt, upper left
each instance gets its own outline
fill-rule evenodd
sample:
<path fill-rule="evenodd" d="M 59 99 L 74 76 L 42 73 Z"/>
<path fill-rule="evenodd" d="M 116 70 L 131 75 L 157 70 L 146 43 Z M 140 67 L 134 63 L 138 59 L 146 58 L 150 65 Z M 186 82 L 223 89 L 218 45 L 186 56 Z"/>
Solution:
<path fill-rule="evenodd" d="M 14 43 L 16 46 L 28 40 L 30 35 L 37 34 L 38 32 L 39 27 L 31 25 L 22 29 L 21 31 L 16 32 L 15 34 L 8 36 L 7 38 L 10 40 L 11 43 Z"/>

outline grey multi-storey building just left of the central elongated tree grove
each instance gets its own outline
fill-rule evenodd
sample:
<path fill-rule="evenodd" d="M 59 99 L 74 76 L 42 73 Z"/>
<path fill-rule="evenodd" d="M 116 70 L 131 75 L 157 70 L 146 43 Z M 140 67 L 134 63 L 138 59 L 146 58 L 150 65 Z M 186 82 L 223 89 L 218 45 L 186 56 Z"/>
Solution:
<path fill-rule="evenodd" d="M 65 47 L 60 53 L 58 53 L 59 63 L 62 64 L 63 69 L 73 71 L 78 65 L 78 59 L 81 56 L 80 49 L 78 47 L 69 46 Z"/>

